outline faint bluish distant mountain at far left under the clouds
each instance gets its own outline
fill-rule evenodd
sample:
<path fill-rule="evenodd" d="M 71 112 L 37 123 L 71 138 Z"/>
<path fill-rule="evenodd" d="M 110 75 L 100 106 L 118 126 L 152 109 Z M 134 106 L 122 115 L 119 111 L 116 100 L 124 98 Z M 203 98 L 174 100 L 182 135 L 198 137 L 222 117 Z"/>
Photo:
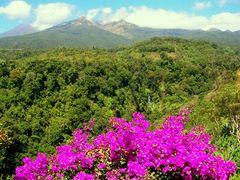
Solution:
<path fill-rule="evenodd" d="M 1 33 L 0 38 L 10 36 L 22 36 L 25 34 L 31 34 L 35 32 L 37 32 L 37 29 L 35 29 L 31 24 L 20 24 L 9 31 Z"/>

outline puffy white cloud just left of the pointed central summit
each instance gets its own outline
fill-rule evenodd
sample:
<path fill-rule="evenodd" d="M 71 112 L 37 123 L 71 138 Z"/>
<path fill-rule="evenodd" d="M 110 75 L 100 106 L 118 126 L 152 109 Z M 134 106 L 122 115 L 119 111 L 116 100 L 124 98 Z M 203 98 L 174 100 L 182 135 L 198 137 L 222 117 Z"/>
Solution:
<path fill-rule="evenodd" d="M 66 3 L 41 4 L 35 9 L 36 20 L 33 27 L 44 30 L 63 22 L 71 14 L 74 6 Z"/>

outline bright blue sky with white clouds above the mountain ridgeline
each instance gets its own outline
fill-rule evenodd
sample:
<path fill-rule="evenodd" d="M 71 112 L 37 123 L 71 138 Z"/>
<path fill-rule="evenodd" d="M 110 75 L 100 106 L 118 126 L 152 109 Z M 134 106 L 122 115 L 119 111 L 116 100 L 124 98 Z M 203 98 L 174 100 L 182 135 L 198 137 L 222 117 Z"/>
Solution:
<path fill-rule="evenodd" d="M 103 23 L 125 19 L 139 26 L 240 30 L 240 0 L 1 0 L 0 32 L 21 23 L 43 30 L 87 16 Z"/>

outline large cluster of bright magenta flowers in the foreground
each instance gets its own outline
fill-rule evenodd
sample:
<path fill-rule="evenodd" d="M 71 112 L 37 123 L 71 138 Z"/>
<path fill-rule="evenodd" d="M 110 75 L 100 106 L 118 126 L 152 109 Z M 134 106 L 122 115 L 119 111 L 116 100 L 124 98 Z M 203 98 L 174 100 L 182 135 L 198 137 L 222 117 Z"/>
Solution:
<path fill-rule="evenodd" d="M 236 164 L 214 156 L 216 148 L 204 129 L 185 130 L 188 113 L 169 116 L 152 131 L 138 112 L 130 122 L 111 119 L 112 128 L 95 138 L 89 138 L 91 127 L 76 130 L 71 143 L 57 147 L 55 154 L 24 158 L 15 180 L 229 179 Z"/>

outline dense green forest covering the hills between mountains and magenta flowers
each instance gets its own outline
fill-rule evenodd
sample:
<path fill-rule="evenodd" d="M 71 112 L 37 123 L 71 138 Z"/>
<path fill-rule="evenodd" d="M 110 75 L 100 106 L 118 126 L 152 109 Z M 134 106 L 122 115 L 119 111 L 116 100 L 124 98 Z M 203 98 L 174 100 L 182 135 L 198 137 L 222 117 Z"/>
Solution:
<path fill-rule="evenodd" d="M 90 118 L 143 112 L 155 123 L 183 107 L 240 167 L 240 51 L 153 38 L 115 49 L 0 50 L 0 177 L 25 156 L 53 153 Z M 154 120 L 158 120 L 158 122 Z"/>

